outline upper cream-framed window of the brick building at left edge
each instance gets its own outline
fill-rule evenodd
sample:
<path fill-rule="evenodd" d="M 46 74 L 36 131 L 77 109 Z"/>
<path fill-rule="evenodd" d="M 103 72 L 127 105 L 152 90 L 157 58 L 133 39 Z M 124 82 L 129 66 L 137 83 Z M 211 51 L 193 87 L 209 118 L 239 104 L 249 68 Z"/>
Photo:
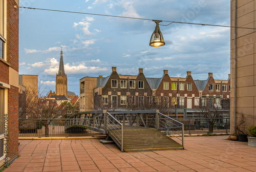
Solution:
<path fill-rule="evenodd" d="M 5 48 L 6 48 L 6 25 L 5 16 L 6 15 L 6 4 L 4 0 L 0 0 L 0 58 L 5 58 Z"/>

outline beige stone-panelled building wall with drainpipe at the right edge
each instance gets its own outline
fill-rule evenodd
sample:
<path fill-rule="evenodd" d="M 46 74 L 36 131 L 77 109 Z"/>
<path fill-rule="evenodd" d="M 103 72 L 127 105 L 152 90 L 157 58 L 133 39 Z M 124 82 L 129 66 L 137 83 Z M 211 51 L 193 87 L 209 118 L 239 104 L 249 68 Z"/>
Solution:
<path fill-rule="evenodd" d="M 231 26 L 234 26 L 234 0 L 231 0 Z M 237 1 L 237 27 L 255 28 L 256 2 Z M 245 130 L 256 125 L 256 32 L 253 29 L 237 29 L 237 88 L 236 121 L 245 117 Z M 231 132 L 234 128 L 234 29 L 231 29 Z"/>

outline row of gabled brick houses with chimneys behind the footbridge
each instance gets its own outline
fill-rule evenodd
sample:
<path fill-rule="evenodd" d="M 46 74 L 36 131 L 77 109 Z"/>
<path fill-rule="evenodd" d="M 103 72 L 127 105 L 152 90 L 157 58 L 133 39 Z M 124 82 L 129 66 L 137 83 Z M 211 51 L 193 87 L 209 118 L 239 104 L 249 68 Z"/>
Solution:
<path fill-rule="evenodd" d="M 168 70 L 163 70 L 161 78 L 147 78 L 143 69 L 138 72 L 138 75 L 121 75 L 112 67 L 108 77 L 81 78 L 80 111 L 159 109 L 175 115 L 177 108 L 179 118 L 188 118 L 198 115 L 196 109 L 202 106 L 229 107 L 229 77 L 215 80 L 208 73 L 206 80 L 194 80 L 190 71 L 185 78 L 177 78 L 169 77 Z"/>

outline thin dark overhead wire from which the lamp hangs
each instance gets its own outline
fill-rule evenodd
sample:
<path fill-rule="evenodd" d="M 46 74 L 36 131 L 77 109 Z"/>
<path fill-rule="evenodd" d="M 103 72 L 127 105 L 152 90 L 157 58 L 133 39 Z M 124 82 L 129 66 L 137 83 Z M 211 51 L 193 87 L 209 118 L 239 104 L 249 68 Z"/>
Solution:
<path fill-rule="evenodd" d="M 156 20 L 156 19 L 148 19 L 148 18 L 125 17 L 125 16 L 117 16 L 117 15 L 94 14 L 94 13 L 53 10 L 53 9 L 44 9 L 44 8 L 17 7 L 17 6 L 16 6 L 16 8 L 25 8 L 25 9 L 32 9 L 32 10 L 45 10 L 45 11 L 56 11 L 56 12 L 76 13 L 76 14 L 88 14 L 88 15 L 98 15 L 98 16 L 107 16 L 107 17 L 130 18 L 130 19 L 140 19 L 140 20 Z M 216 26 L 216 27 L 225 27 L 225 28 L 256 29 L 256 28 L 248 28 L 248 27 L 235 27 L 235 26 L 211 25 L 211 24 L 202 24 L 202 23 L 176 22 L 176 21 L 169 21 L 169 20 L 159 20 L 159 21 L 169 22 L 170 24 L 177 23 L 177 24 L 189 24 L 189 25 L 201 25 L 201 26 Z M 168 24 L 168 25 L 170 25 L 170 24 Z M 161 26 L 168 26 L 168 25 L 161 25 Z"/>

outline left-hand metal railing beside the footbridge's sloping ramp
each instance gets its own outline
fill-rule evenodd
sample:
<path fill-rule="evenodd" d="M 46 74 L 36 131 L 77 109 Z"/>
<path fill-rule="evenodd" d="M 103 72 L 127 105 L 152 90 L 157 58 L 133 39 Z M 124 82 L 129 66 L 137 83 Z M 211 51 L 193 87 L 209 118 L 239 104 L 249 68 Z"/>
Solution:
<path fill-rule="evenodd" d="M 106 130 L 123 152 L 123 125 L 110 113 L 106 113 Z"/>

